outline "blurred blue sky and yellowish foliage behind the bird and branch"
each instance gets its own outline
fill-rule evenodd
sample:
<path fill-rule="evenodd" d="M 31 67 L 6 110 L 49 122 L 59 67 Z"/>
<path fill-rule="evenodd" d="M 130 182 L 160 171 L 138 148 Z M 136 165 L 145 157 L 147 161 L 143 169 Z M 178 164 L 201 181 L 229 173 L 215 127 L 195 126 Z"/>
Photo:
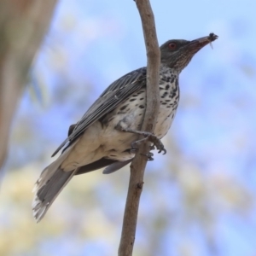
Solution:
<path fill-rule="evenodd" d="M 151 4 L 160 44 L 210 32 L 219 38 L 180 76 L 179 108 L 163 139 L 167 154 L 154 152 L 145 173 L 134 255 L 255 256 L 256 3 Z M 117 254 L 129 168 L 74 177 L 39 224 L 31 191 L 69 125 L 113 80 L 145 65 L 133 1 L 56 3 L 12 122 L 1 256 Z"/>

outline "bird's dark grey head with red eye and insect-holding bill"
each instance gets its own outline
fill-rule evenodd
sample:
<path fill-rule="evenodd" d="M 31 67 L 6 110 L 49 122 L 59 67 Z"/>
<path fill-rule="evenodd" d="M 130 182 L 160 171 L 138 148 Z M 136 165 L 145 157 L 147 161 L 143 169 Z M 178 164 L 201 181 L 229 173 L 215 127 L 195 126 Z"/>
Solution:
<path fill-rule="evenodd" d="M 193 41 L 169 40 L 160 46 L 161 63 L 176 69 L 180 73 L 189 64 L 195 53 L 217 38 L 217 35 L 210 33 L 208 37 Z"/>

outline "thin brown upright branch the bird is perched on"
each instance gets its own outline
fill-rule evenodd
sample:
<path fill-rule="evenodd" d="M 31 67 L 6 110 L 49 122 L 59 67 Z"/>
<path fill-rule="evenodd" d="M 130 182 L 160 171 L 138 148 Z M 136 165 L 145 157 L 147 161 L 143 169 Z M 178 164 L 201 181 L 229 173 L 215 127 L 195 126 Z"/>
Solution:
<path fill-rule="evenodd" d="M 143 119 L 142 131 L 154 131 L 154 126 L 159 112 L 159 70 L 160 49 L 154 25 L 154 14 L 149 0 L 137 0 L 137 9 L 143 24 L 143 35 L 147 49 L 147 108 Z M 148 154 L 149 143 L 142 143 L 137 154 L 131 162 L 131 176 L 125 205 L 125 215 L 119 256 L 132 255 L 137 228 L 137 212 L 140 195 L 143 190 L 143 176 L 147 159 L 143 154 Z"/>

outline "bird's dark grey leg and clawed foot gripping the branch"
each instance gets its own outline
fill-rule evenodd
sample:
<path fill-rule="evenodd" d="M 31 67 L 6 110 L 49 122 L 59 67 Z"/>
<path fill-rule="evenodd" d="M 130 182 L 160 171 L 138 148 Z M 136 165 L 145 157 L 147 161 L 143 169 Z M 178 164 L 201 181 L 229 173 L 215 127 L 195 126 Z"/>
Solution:
<path fill-rule="evenodd" d="M 137 141 L 131 143 L 131 148 L 135 148 L 135 144 L 142 143 L 143 141 L 148 140 L 150 143 L 153 143 L 153 147 L 155 147 L 159 150 L 158 153 L 161 153 L 163 151 L 164 154 L 166 154 L 166 148 L 165 148 L 164 144 L 161 143 L 160 139 L 158 137 L 156 137 L 154 134 L 152 134 L 148 131 L 131 130 L 129 128 L 124 128 L 121 125 L 116 125 L 115 128 L 119 131 L 135 133 L 135 134 L 142 135 L 144 137 L 143 139 L 140 139 L 140 140 L 137 140 Z"/>

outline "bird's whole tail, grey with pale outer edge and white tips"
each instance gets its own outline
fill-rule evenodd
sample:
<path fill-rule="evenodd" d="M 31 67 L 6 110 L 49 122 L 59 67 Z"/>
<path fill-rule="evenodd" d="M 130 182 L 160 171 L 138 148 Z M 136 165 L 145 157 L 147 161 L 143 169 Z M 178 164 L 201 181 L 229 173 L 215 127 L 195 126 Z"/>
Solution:
<path fill-rule="evenodd" d="M 57 195 L 76 172 L 76 170 L 64 172 L 61 169 L 61 163 L 67 158 L 71 148 L 67 148 L 57 160 L 44 169 L 32 190 L 35 194 L 32 201 L 32 211 L 37 222 L 44 217 Z"/>

